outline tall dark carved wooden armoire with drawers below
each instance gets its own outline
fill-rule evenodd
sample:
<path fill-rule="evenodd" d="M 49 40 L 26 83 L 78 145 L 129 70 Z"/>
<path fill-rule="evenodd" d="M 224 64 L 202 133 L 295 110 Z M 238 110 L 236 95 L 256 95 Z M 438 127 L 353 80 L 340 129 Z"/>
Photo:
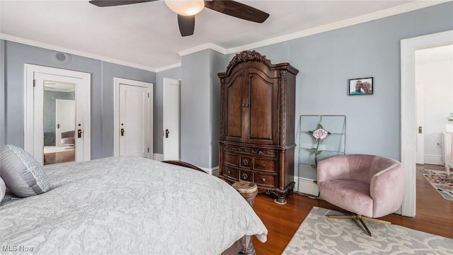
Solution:
<path fill-rule="evenodd" d="M 219 177 L 251 181 L 260 193 L 286 203 L 294 189 L 296 75 L 288 63 L 260 53 L 238 53 L 219 73 Z"/>

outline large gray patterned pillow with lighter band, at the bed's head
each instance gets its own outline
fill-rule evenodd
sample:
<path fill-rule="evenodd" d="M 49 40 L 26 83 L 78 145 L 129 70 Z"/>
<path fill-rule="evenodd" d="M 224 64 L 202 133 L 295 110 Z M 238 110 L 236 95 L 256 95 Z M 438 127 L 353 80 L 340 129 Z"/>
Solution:
<path fill-rule="evenodd" d="M 42 166 L 25 149 L 14 145 L 0 147 L 0 176 L 16 196 L 26 198 L 50 188 Z"/>

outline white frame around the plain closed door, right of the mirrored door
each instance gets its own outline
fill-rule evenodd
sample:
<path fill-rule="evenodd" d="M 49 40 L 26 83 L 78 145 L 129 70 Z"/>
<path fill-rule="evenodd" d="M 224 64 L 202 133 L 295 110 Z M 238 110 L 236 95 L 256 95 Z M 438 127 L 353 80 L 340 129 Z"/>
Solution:
<path fill-rule="evenodd" d="M 113 155 L 119 156 L 120 155 L 120 85 L 130 85 L 130 86 L 141 86 L 145 87 L 149 91 L 148 97 L 148 105 L 149 105 L 149 130 L 148 130 L 148 137 L 149 137 L 149 152 L 148 152 L 148 159 L 152 159 L 153 155 L 153 84 L 150 82 L 144 81 L 134 81 L 131 79 L 123 79 L 113 77 L 113 102 L 114 102 L 114 110 L 113 110 Z"/>

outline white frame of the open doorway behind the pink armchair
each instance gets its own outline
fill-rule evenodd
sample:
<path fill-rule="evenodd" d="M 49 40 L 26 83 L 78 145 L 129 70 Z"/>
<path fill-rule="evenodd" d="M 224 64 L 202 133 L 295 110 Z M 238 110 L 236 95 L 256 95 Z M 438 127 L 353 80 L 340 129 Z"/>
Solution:
<path fill-rule="evenodd" d="M 406 174 L 403 216 L 415 217 L 416 209 L 415 50 L 451 43 L 453 30 L 401 40 L 401 163 Z"/>

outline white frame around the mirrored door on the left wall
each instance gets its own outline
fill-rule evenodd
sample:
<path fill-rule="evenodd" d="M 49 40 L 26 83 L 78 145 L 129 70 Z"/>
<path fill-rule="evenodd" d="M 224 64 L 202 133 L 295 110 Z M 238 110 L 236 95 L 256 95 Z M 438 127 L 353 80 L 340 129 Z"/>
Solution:
<path fill-rule="evenodd" d="M 24 132 L 23 149 L 35 157 L 35 124 L 34 124 L 34 77 L 35 73 L 60 77 L 71 77 L 81 80 L 84 86 L 84 160 L 91 159 L 91 74 L 53 67 L 43 67 L 35 64 L 24 64 Z M 88 113 L 88 114 L 85 114 Z M 42 134 L 44 135 L 44 134 Z"/>

